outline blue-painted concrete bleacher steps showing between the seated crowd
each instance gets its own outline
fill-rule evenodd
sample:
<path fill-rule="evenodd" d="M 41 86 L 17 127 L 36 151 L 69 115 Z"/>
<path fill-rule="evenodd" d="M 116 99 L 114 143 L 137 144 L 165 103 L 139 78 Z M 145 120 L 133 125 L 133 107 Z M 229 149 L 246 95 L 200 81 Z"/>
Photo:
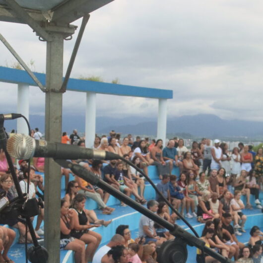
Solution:
<path fill-rule="evenodd" d="M 149 166 L 149 177 L 153 180 L 153 182 L 156 184 L 159 182 L 157 169 L 155 166 Z M 179 170 L 174 169 L 173 174 L 179 175 Z M 74 180 L 74 177 L 71 175 L 70 180 Z M 61 180 L 61 197 L 65 196 L 65 179 L 62 177 Z M 148 182 L 145 182 L 145 190 L 144 190 L 144 197 L 146 199 L 155 198 L 155 191 L 153 190 L 152 186 L 149 185 Z M 245 197 L 242 197 L 244 203 Z M 261 199 L 263 198 L 263 193 L 261 193 Z M 254 204 L 255 197 L 251 196 L 251 203 Z M 115 230 L 117 226 L 120 224 L 128 224 L 130 227 L 130 230 L 132 231 L 132 238 L 136 238 L 138 235 L 138 222 L 141 214 L 134 210 L 133 208 L 127 206 L 123 207 L 120 206 L 120 201 L 111 196 L 109 198 L 109 201 L 107 202 L 107 205 L 114 207 L 115 211 L 111 215 L 104 215 L 100 210 L 97 208 L 97 204 L 95 201 L 88 199 L 86 200 L 85 208 L 91 210 L 94 209 L 96 211 L 97 217 L 99 219 L 105 219 L 110 220 L 113 219 L 112 223 L 106 228 L 104 226 L 98 227 L 98 228 L 92 228 L 91 230 L 99 233 L 102 235 L 102 241 L 100 246 L 105 245 L 108 243 L 108 241 L 111 239 L 111 237 L 115 234 Z M 247 214 L 248 219 L 246 222 L 246 229 L 250 229 L 253 225 L 258 225 L 260 228 L 263 228 L 263 213 L 261 213 L 260 209 L 253 209 L 253 210 L 244 210 L 244 213 Z M 200 224 L 197 222 L 196 218 L 187 219 L 189 223 L 195 228 L 197 233 L 200 235 L 203 224 Z M 189 231 L 191 233 L 191 230 L 186 226 L 182 220 L 178 220 L 177 224 L 182 226 L 184 229 Z M 248 231 L 247 231 L 248 232 Z M 246 233 L 242 235 L 239 240 L 241 242 L 247 242 L 249 240 L 249 234 Z M 195 262 L 195 256 L 196 256 L 196 249 L 188 247 L 189 255 L 188 255 L 188 262 Z M 23 244 L 14 244 L 12 248 L 10 249 L 10 258 L 12 258 L 15 262 L 25 262 L 25 253 L 24 253 L 24 245 Z M 73 263 L 73 253 L 72 251 L 61 251 L 61 263 Z"/>

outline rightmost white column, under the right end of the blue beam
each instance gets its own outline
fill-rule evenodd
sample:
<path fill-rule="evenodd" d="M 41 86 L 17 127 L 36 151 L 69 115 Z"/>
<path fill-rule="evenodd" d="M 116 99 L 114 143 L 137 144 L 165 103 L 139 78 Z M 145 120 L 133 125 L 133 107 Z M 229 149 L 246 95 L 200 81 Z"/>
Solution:
<path fill-rule="evenodd" d="M 158 105 L 158 123 L 157 123 L 157 139 L 163 140 L 166 144 L 166 122 L 167 122 L 167 99 L 159 99 Z"/>

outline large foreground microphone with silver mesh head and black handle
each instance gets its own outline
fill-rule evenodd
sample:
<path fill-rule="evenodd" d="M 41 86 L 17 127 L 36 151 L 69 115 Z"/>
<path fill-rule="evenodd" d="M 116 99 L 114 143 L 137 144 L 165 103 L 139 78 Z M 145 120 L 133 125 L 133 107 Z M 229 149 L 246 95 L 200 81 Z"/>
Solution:
<path fill-rule="evenodd" d="M 89 149 L 60 142 L 35 140 L 24 134 L 14 134 L 7 140 L 7 152 L 16 159 L 51 157 L 55 159 L 100 159 L 115 160 L 120 156 L 113 152 Z"/>

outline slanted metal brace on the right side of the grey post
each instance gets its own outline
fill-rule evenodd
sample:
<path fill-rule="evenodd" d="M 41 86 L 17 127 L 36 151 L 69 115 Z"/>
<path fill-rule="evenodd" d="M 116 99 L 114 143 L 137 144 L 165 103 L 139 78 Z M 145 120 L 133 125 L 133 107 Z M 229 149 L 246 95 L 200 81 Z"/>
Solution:
<path fill-rule="evenodd" d="M 89 14 L 85 14 L 83 16 L 83 18 L 82 18 L 82 22 L 81 22 L 81 26 L 80 26 L 80 29 L 79 29 L 79 32 L 78 32 L 78 35 L 77 35 L 77 39 L 76 39 L 76 42 L 75 42 L 75 45 L 74 45 L 74 48 L 73 48 L 73 51 L 72 51 L 72 54 L 71 54 L 71 57 L 70 57 L 70 61 L 68 63 L 67 69 L 66 69 L 66 75 L 65 75 L 63 84 L 61 86 L 61 89 L 60 89 L 61 92 L 66 92 L 66 85 L 67 85 L 67 82 L 68 82 L 68 79 L 69 79 L 69 76 L 70 76 L 70 73 L 71 73 L 71 70 L 72 70 L 72 67 L 73 67 L 76 55 L 77 55 L 79 44 L 81 42 L 81 39 L 82 39 L 84 30 L 85 30 L 86 24 L 87 24 L 87 22 L 89 20 L 89 17 L 90 17 Z"/>

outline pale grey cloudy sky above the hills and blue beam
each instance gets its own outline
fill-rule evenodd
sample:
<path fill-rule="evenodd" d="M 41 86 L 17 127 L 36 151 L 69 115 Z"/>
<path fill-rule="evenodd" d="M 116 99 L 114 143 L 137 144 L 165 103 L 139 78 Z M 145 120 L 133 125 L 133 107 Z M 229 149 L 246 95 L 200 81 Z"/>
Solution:
<path fill-rule="evenodd" d="M 91 13 L 71 77 L 172 89 L 168 114 L 215 114 L 263 121 L 263 3 L 260 0 L 114 0 Z M 80 26 L 81 21 L 73 24 Z M 0 33 L 26 63 L 45 72 L 46 44 L 26 25 L 0 22 Z M 73 40 L 65 41 L 64 72 Z M 0 66 L 14 58 L 0 43 Z M 1 112 L 16 110 L 16 85 L 0 83 Z M 45 96 L 30 88 L 30 113 Z M 124 110 L 125 109 L 125 110 Z M 97 95 L 97 115 L 157 116 L 154 99 Z M 84 114 L 85 96 L 66 92 L 65 114 Z"/>

